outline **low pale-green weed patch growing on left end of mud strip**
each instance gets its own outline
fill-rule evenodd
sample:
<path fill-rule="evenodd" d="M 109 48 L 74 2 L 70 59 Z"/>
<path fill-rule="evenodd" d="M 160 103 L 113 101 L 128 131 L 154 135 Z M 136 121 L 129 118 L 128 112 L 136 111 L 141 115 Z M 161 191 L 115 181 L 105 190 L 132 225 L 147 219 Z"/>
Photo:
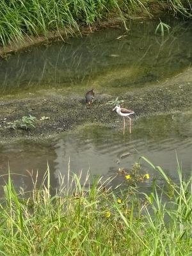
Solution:
<path fill-rule="evenodd" d="M 34 127 L 35 125 L 33 125 L 33 122 L 36 121 L 36 117 L 35 116 L 22 116 L 21 119 L 15 120 L 13 122 L 8 122 L 8 128 L 11 129 L 29 129 L 29 127 Z"/>

